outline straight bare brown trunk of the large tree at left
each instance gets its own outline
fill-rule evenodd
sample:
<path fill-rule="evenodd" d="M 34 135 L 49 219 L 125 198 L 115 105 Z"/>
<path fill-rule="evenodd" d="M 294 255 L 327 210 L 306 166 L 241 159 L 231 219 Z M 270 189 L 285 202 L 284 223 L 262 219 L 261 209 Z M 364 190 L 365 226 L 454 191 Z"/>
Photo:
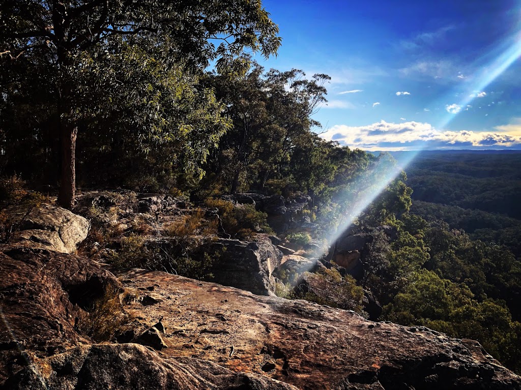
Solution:
<path fill-rule="evenodd" d="M 71 210 L 76 196 L 76 137 L 78 128 L 60 119 L 60 191 L 58 204 Z"/>

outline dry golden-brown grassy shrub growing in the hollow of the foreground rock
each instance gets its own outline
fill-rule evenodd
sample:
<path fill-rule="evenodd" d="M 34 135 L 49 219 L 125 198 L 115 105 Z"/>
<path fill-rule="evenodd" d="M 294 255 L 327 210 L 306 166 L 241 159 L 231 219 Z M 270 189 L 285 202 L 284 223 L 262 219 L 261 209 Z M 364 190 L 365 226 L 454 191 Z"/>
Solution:
<path fill-rule="evenodd" d="M 104 294 L 78 318 L 78 330 L 101 343 L 123 333 L 133 320 L 121 306 L 119 287 L 107 286 Z"/>

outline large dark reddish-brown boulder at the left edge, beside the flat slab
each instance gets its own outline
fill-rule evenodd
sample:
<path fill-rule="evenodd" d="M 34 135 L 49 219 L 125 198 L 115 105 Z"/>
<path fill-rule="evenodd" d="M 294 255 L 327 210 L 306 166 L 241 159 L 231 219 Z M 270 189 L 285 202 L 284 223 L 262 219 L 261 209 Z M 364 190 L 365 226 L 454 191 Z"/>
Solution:
<path fill-rule="evenodd" d="M 121 284 L 98 263 L 46 249 L 0 250 L 0 383 L 23 366 L 22 350 L 52 354 L 85 342 L 78 318 Z"/>

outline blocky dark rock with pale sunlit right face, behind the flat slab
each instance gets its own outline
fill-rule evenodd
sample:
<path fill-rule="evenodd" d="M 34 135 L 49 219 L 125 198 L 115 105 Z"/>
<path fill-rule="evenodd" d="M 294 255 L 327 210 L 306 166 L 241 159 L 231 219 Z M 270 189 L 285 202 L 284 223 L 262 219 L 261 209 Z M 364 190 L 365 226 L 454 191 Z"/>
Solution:
<path fill-rule="evenodd" d="M 211 247 L 219 254 L 212 265 L 217 283 L 258 295 L 275 292 L 273 272 L 280 265 L 282 253 L 266 235 L 248 243 L 221 238 Z"/>

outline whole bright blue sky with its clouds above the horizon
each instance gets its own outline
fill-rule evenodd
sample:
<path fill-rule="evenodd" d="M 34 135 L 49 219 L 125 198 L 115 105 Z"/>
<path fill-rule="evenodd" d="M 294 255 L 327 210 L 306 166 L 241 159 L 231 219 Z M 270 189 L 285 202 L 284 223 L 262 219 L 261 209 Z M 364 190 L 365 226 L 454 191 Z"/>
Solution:
<path fill-rule="evenodd" d="M 315 119 L 364 150 L 521 149 L 521 0 L 264 0 L 266 69 L 326 73 Z"/>

